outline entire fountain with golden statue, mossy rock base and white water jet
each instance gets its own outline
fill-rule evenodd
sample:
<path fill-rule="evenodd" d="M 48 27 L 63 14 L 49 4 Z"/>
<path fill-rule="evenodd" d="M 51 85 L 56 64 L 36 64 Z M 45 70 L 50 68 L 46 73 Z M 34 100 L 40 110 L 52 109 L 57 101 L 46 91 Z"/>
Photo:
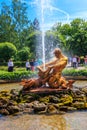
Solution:
<path fill-rule="evenodd" d="M 43 65 L 37 67 L 37 78 L 21 81 L 23 86 L 21 90 L 11 89 L 0 92 L 1 115 L 60 114 L 66 111 L 87 109 L 87 88 L 74 91 L 72 89 L 74 81 L 66 81 L 62 76 L 62 71 L 68 61 L 63 52 L 55 47 L 54 59 L 45 63 L 44 1 L 41 0 Z M 47 3 L 46 7 L 67 15 L 64 11 L 49 6 Z"/>

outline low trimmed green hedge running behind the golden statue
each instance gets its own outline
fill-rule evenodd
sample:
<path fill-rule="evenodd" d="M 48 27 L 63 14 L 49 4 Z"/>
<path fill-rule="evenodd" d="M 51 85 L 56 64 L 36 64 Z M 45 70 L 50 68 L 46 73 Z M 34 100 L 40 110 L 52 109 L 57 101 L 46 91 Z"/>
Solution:
<path fill-rule="evenodd" d="M 87 76 L 87 69 L 64 69 L 62 74 L 63 76 Z M 13 72 L 0 70 L 0 80 L 21 81 L 21 79 L 32 78 L 35 76 L 37 76 L 37 71 L 26 71 L 24 68 Z"/>

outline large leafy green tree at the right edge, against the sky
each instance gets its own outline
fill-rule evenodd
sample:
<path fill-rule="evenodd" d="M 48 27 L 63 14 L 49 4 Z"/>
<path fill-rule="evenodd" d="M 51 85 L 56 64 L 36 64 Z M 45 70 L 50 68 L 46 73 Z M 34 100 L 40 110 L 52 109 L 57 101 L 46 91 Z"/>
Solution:
<path fill-rule="evenodd" d="M 56 27 L 57 28 L 57 27 Z M 60 46 L 68 55 L 87 54 L 87 22 L 83 19 L 74 19 L 70 24 L 64 24 L 54 33 L 59 35 Z"/>

